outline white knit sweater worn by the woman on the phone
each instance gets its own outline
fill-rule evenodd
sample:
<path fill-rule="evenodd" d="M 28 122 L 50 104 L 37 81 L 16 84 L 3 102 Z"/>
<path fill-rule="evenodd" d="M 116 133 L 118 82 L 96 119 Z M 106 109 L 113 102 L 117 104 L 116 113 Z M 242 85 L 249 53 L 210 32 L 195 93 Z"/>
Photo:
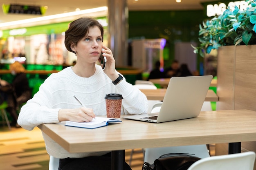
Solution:
<path fill-rule="evenodd" d="M 96 71 L 91 77 L 79 77 L 72 67 L 53 73 L 40 86 L 38 93 L 25 104 L 18 117 L 18 124 L 27 130 L 33 130 L 40 124 L 55 124 L 58 121 L 60 109 L 79 108 L 81 105 L 73 97 L 76 95 L 95 115 L 106 115 L 105 95 L 121 93 L 122 115 L 145 114 L 148 110 L 146 96 L 138 88 L 126 82 L 125 78 L 117 85 L 96 65 Z M 64 125 L 63 125 L 64 126 Z M 43 132 L 42 132 L 43 133 Z M 45 147 L 49 155 L 56 158 L 99 156 L 106 152 L 69 153 L 54 140 L 43 133 Z"/>

